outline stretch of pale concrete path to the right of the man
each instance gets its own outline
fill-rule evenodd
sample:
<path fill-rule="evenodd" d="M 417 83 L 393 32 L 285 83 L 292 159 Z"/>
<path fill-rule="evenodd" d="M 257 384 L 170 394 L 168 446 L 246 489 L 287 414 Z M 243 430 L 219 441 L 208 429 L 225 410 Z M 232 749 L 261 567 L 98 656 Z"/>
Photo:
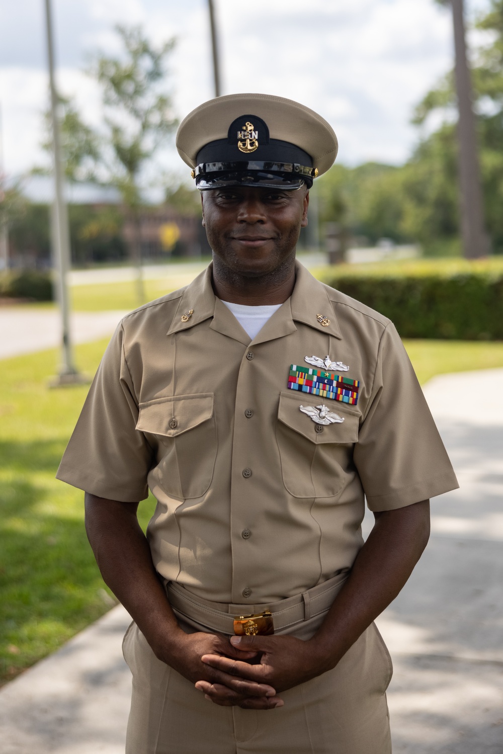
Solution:
<path fill-rule="evenodd" d="M 501 754 L 503 369 L 441 375 L 425 394 L 461 489 L 433 499 L 430 544 L 378 621 L 393 751 Z"/>

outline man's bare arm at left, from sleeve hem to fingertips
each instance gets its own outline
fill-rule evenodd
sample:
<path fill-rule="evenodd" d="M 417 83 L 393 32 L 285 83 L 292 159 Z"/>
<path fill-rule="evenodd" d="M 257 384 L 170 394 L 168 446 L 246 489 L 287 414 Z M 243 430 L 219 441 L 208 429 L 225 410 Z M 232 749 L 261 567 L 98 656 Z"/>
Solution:
<path fill-rule="evenodd" d="M 225 706 L 271 710 L 283 700 L 269 685 L 231 676 L 201 660 L 221 654 L 250 661 L 256 652 L 241 652 L 228 637 L 212 633 L 185 633 L 167 601 L 152 562 L 149 543 L 136 518 L 137 503 L 98 498 L 86 492 L 86 531 L 106 584 L 122 602 L 159 660 L 192 683 L 216 685 L 212 701 Z M 244 657 L 246 654 L 246 657 Z"/>

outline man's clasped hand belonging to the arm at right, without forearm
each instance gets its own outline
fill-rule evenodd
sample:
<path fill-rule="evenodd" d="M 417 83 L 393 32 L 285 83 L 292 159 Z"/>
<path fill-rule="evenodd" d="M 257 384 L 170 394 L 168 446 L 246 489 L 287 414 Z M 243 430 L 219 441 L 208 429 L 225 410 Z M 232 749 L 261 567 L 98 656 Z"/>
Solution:
<path fill-rule="evenodd" d="M 293 636 L 232 636 L 231 643 L 241 651 L 259 652 L 259 664 L 250 665 L 249 662 L 233 660 L 218 654 L 204 654 L 202 661 L 228 673 L 229 676 L 267 683 L 275 688 L 277 694 L 329 670 L 328 667 L 324 667 L 324 661 L 315 651 L 312 641 L 304 642 Z M 232 682 L 224 687 L 198 681 L 195 687 L 204 691 L 206 697 L 216 704 L 238 704 L 244 709 L 254 706 L 254 700 L 243 699 L 238 687 L 235 690 L 232 688 Z"/>

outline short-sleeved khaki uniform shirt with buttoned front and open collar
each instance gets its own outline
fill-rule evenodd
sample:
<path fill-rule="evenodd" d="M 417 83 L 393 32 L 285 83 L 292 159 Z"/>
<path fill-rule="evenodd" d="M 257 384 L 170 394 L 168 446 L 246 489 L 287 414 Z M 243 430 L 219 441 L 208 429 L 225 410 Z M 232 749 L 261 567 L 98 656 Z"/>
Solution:
<path fill-rule="evenodd" d="M 327 354 L 360 382 L 356 404 L 287 388 L 291 365 Z M 299 409 L 322 403 L 344 421 Z M 124 317 L 58 478 L 120 501 L 151 489 L 158 572 L 245 605 L 351 568 L 365 495 L 380 511 L 457 487 L 394 326 L 299 264 L 292 296 L 251 342 L 214 295 L 211 265 Z"/>

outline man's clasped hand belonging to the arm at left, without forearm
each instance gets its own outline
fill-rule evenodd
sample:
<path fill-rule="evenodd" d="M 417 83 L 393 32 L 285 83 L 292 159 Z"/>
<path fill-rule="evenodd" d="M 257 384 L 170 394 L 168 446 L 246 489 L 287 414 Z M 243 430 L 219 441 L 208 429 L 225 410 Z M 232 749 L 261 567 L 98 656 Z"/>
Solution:
<path fill-rule="evenodd" d="M 238 676 L 231 676 L 222 670 L 211 668 L 201 657 L 204 654 L 219 654 L 241 661 L 253 660 L 257 653 L 243 652 L 232 646 L 228 636 L 213 633 L 185 633 L 181 629 L 176 636 L 170 636 L 169 649 L 155 651 L 162 662 L 176 670 L 192 683 L 207 681 L 213 684 L 217 694 L 211 698 L 221 706 L 241 706 L 255 710 L 272 710 L 282 706 L 283 700 L 276 696 L 272 686 L 256 683 Z M 210 697 L 207 697 L 208 699 Z"/>

